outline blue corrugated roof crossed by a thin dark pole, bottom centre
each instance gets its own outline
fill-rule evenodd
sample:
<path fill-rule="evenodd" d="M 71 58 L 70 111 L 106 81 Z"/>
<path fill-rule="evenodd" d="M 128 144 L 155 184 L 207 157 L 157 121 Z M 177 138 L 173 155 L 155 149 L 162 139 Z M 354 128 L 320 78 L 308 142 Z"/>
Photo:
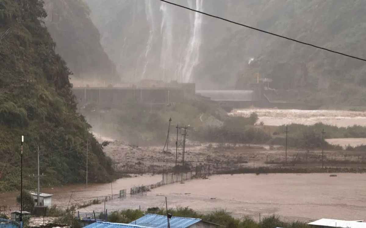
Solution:
<path fill-rule="evenodd" d="M 183 217 L 172 217 L 169 219 L 170 228 L 186 228 L 195 223 L 201 221 L 199 218 L 183 218 Z M 152 228 L 167 228 L 168 221 L 167 216 L 157 214 L 146 214 L 141 218 L 131 222 L 130 224 L 137 224 Z"/>

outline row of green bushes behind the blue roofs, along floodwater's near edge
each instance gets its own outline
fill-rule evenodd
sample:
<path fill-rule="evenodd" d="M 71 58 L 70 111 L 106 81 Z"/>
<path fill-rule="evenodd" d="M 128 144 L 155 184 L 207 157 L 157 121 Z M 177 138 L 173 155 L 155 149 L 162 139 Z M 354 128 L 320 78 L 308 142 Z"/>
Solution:
<path fill-rule="evenodd" d="M 65 212 L 62 218 L 57 220 L 57 223 L 61 224 L 67 224 L 67 225 L 76 225 L 76 228 L 78 227 L 77 220 L 75 221 L 75 218 L 71 215 L 74 212 L 68 211 Z M 146 213 L 154 213 L 154 214 L 160 214 L 160 215 L 166 215 L 165 209 L 160 209 L 158 207 L 153 207 L 147 209 Z M 204 221 L 208 221 L 211 223 L 216 223 L 219 225 L 223 225 L 227 228 L 276 228 L 276 227 L 288 227 L 288 228 L 307 228 L 309 227 L 306 223 L 300 223 L 300 222 L 284 222 L 281 221 L 279 217 L 273 215 L 273 216 L 267 216 L 264 218 L 261 218 L 261 222 L 258 223 L 253 220 L 251 217 L 244 217 L 242 219 L 237 219 L 232 217 L 228 212 L 224 210 L 216 210 L 214 212 L 211 212 L 209 214 L 201 214 L 198 213 L 188 207 L 179 207 L 177 209 L 168 209 L 168 213 L 171 213 L 173 216 L 177 217 L 191 217 L 191 218 L 202 218 Z M 112 223 L 130 223 L 137 218 L 143 216 L 144 212 L 140 210 L 122 210 L 122 211 L 116 211 L 112 212 L 108 215 L 108 221 Z M 103 217 L 103 215 L 101 215 Z"/>

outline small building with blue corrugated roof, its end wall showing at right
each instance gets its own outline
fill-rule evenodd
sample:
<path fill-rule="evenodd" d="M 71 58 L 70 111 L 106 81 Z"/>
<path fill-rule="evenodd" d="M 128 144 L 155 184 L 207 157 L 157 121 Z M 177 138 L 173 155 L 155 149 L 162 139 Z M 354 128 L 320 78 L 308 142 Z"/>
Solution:
<path fill-rule="evenodd" d="M 152 228 L 168 227 L 167 216 L 146 214 L 130 224 Z M 172 216 L 169 219 L 170 228 L 218 228 L 220 225 L 203 221 L 200 218 L 184 218 Z"/>

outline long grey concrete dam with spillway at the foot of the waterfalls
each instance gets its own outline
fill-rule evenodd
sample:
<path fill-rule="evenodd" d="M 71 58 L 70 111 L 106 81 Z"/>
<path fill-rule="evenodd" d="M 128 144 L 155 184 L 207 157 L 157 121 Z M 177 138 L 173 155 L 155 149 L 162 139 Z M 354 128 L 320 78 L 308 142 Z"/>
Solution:
<path fill-rule="evenodd" d="M 79 105 L 98 103 L 108 107 L 123 107 L 128 102 L 149 106 L 162 106 L 179 103 L 185 98 L 196 98 L 217 103 L 230 109 L 277 108 L 316 110 L 320 106 L 272 102 L 264 92 L 258 90 L 198 90 L 194 85 L 182 84 L 176 87 L 75 87 L 72 89 Z"/>

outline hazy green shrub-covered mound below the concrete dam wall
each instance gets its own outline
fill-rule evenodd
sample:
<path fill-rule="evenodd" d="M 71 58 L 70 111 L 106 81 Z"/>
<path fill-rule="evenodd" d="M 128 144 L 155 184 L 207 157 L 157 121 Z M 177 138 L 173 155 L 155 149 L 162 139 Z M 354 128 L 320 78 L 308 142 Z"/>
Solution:
<path fill-rule="evenodd" d="M 87 107 L 86 115 L 94 115 L 99 122 L 99 114 L 96 107 Z M 167 137 L 169 118 L 171 121 L 171 134 L 176 134 L 176 125 L 180 127 L 190 125 L 189 140 L 210 141 L 218 143 L 265 143 L 271 136 L 254 126 L 258 121 L 258 115 L 252 113 L 250 117 L 233 117 L 219 107 L 199 100 L 186 100 L 169 107 L 142 106 L 137 103 L 127 104 L 123 110 L 112 111 L 112 116 L 117 116 L 120 134 L 130 143 L 161 144 Z M 95 113 L 95 114 L 93 114 Z M 203 116 L 209 117 L 211 122 L 205 121 Z M 112 118 L 105 118 L 111 121 Z M 212 124 L 213 122 L 213 124 Z M 116 126 L 112 126 L 115 127 Z M 183 133 L 183 130 L 180 132 Z"/>

